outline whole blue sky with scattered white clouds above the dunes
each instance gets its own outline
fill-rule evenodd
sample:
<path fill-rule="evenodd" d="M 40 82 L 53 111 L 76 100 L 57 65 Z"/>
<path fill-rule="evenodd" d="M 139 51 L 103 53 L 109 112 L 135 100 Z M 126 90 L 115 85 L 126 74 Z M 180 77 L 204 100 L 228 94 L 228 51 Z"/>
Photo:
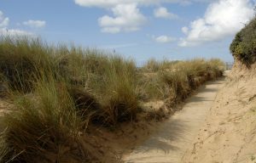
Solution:
<path fill-rule="evenodd" d="M 0 34 L 115 49 L 154 59 L 232 61 L 230 42 L 253 18 L 253 0 L 0 0 Z"/>

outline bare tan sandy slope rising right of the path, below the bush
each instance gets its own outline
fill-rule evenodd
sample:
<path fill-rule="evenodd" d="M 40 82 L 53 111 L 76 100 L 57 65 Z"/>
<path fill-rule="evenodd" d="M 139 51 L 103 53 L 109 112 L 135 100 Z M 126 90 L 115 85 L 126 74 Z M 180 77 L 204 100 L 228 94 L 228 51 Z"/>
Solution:
<path fill-rule="evenodd" d="M 181 162 L 256 162 L 256 77 L 237 70 Z"/>

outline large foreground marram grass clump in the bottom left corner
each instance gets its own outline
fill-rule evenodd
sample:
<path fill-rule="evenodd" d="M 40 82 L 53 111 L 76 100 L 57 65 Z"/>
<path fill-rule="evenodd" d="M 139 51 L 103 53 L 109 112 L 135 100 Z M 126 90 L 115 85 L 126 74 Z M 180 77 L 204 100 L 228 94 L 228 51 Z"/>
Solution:
<path fill-rule="evenodd" d="M 70 149 L 79 145 L 84 121 L 76 115 L 67 87 L 55 82 L 35 85 L 33 97 L 16 95 L 14 109 L 4 116 L 1 162 L 61 162 L 67 155 L 78 156 Z"/>

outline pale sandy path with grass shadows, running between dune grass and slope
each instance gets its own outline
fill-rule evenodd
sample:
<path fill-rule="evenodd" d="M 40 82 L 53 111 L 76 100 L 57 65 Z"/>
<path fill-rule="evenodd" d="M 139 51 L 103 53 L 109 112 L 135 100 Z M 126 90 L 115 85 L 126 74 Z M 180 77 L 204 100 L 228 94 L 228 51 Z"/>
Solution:
<path fill-rule="evenodd" d="M 163 122 L 158 132 L 138 146 L 131 155 L 126 155 L 127 163 L 177 163 L 183 158 L 185 152 L 193 146 L 192 141 L 197 136 L 201 125 L 205 121 L 207 112 L 224 80 L 207 82 L 199 92 L 189 98 L 183 110 Z"/>

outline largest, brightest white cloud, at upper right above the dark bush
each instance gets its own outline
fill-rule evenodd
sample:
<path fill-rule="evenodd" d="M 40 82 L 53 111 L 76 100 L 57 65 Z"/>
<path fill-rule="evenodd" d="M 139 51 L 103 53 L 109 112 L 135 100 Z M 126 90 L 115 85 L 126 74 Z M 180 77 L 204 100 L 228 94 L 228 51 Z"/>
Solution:
<path fill-rule="evenodd" d="M 208 6 L 203 18 L 192 21 L 189 28 L 183 27 L 187 37 L 181 39 L 179 46 L 195 46 L 230 37 L 252 18 L 253 4 L 249 0 L 218 0 Z"/>

